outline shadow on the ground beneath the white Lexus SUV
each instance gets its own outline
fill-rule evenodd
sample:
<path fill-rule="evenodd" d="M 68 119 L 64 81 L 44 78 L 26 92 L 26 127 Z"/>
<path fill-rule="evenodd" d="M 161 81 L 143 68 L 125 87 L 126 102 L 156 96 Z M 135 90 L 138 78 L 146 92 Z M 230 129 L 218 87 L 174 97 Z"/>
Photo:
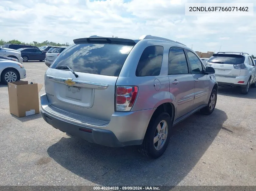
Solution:
<path fill-rule="evenodd" d="M 220 87 L 218 88 L 218 94 L 231 97 L 241 97 L 247 99 L 256 99 L 256 88 L 250 88 L 248 94 L 241 94 L 241 88 L 239 87 Z"/>

